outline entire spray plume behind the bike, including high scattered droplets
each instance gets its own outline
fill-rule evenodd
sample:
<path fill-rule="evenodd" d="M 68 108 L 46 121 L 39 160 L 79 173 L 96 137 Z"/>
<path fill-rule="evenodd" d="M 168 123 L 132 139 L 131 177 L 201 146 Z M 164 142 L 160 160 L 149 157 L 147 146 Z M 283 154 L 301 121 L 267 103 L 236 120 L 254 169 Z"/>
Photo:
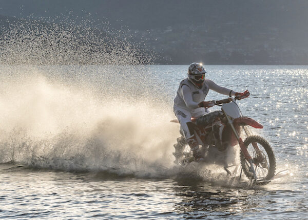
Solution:
<path fill-rule="evenodd" d="M 129 30 L 81 20 L 16 18 L 0 27 L 0 163 L 119 173 L 171 167 L 178 128 L 144 65 L 155 57 Z"/>

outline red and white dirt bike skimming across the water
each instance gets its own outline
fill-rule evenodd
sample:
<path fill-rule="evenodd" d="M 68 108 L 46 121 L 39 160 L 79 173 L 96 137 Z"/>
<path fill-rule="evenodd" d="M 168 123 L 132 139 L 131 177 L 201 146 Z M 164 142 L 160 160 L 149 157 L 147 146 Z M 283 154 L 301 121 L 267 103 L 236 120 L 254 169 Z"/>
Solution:
<path fill-rule="evenodd" d="M 251 127 L 263 128 L 263 126 L 252 118 L 244 117 L 240 111 L 236 100 L 242 98 L 229 97 L 218 101 L 211 101 L 214 105 L 221 106 L 221 111 L 208 113 L 199 118 L 191 118 L 194 123 L 194 133 L 201 146 L 204 160 L 217 162 L 219 155 L 227 156 L 230 148 L 239 145 L 241 179 L 242 171 L 246 177 L 256 184 L 267 184 L 275 175 L 276 159 L 272 147 L 268 142 L 257 135 L 253 135 Z M 176 122 L 177 120 L 172 120 Z M 180 130 L 181 137 L 174 145 L 176 152 L 175 163 L 185 165 L 194 161 L 190 147 Z M 242 140 L 241 136 L 246 136 Z M 239 163 L 221 163 L 228 175 L 238 172 Z M 229 167 L 235 166 L 234 172 L 229 171 Z"/>

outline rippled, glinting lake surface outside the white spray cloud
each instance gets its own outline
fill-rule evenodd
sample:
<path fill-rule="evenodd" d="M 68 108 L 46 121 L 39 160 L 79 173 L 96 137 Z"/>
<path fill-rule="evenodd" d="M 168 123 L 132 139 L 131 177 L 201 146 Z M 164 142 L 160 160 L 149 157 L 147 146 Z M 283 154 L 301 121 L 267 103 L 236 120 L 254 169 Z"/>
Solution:
<path fill-rule="evenodd" d="M 160 91 L 171 106 L 178 81 L 186 76 L 186 67 L 149 69 L 160 74 L 155 83 L 164 82 L 160 84 Z M 163 74 L 165 72 L 168 74 Z M 24 166 L 20 164 L 22 161 L 0 164 L 0 217 L 304 219 L 308 209 L 307 67 L 209 66 L 207 72 L 217 84 L 237 91 L 251 91 L 250 99 L 238 102 L 241 110 L 264 125 L 255 132 L 273 147 L 277 171 L 288 169 L 290 175 L 266 186 L 245 188 L 230 184 L 225 174 L 210 173 L 200 167 L 180 170 L 158 166 L 156 161 L 144 164 L 131 155 L 120 157 L 123 167 L 115 167 L 116 160 L 113 166 L 100 166 L 93 160 L 87 163 L 84 157 L 61 158 L 51 153 L 40 160 L 32 158 L 34 165 L 25 163 L 29 166 Z M 93 81 L 97 79 L 91 74 L 88 77 L 94 77 Z M 223 97 L 210 92 L 207 99 Z M 65 143 L 76 140 L 74 138 L 66 136 Z M 37 147 L 46 146 L 40 144 Z M 30 145 L 18 146 L 26 149 Z M 172 144 L 160 147 L 172 148 Z M 1 149 L 3 156 L 6 151 Z M 156 149 L 153 147 L 150 152 Z M 167 155 L 164 160 L 172 163 L 171 150 L 163 152 Z M 104 159 L 110 162 L 110 157 Z M 136 165 L 133 171 L 126 167 L 132 165 L 131 161 Z M 93 165 L 91 169 L 88 169 L 89 164 Z"/>

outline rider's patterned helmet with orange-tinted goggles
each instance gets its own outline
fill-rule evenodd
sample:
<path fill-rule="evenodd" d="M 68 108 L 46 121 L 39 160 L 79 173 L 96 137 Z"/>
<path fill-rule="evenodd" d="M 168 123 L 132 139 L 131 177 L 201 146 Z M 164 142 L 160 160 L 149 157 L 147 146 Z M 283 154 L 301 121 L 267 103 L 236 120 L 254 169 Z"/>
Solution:
<path fill-rule="evenodd" d="M 188 68 L 188 80 L 194 83 L 199 89 L 201 89 L 204 79 L 205 79 L 205 70 L 202 66 L 202 63 L 193 62 L 189 65 Z"/>

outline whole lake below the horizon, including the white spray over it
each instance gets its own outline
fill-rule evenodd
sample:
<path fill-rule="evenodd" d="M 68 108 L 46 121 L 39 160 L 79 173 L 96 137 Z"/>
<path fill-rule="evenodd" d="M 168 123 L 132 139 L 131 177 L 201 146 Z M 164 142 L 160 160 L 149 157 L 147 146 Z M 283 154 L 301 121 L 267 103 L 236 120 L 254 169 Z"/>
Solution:
<path fill-rule="evenodd" d="M 172 100 L 187 68 L 0 66 L 0 218 L 306 219 L 308 67 L 206 67 L 251 92 L 242 113 L 264 125 L 255 133 L 276 172 L 290 172 L 255 187 L 220 167 L 173 164 Z"/>

